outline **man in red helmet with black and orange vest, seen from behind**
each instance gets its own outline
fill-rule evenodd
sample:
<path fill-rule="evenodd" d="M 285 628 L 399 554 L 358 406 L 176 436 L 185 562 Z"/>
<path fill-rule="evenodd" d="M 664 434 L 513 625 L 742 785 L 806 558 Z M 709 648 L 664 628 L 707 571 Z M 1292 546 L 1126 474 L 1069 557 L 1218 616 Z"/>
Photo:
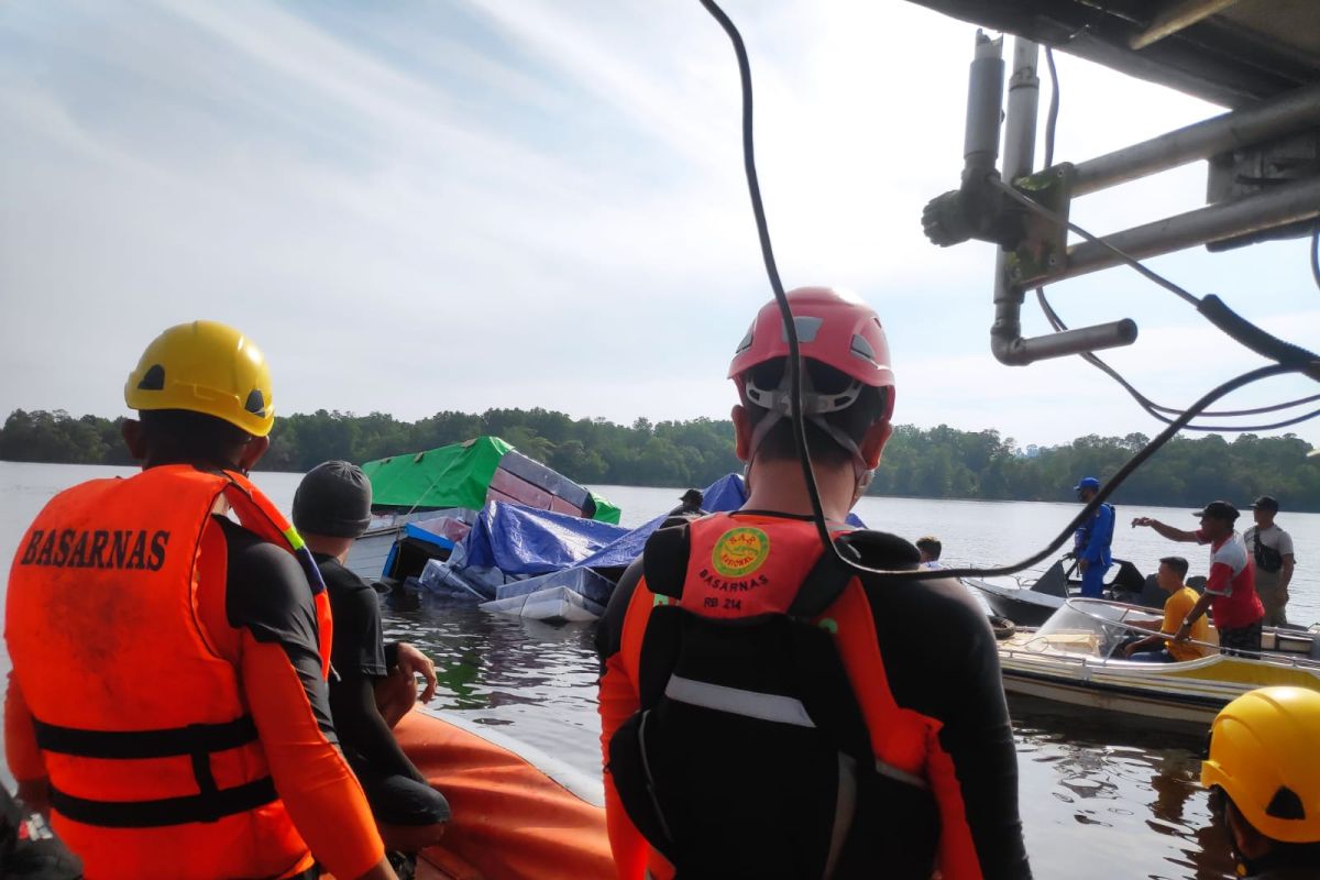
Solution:
<path fill-rule="evenodd" d="M 892 431 L 879 318 L 824 288 L 788 301 L 838 554 L 812 522 L 771 302 L 729 371 L 747 504 L 657 530 L 601 621 L 619 876 L 1030 877 L 983 612 L 956 581 L 886 581 L 840 561 L 920 559 L 845 524 Z"/>

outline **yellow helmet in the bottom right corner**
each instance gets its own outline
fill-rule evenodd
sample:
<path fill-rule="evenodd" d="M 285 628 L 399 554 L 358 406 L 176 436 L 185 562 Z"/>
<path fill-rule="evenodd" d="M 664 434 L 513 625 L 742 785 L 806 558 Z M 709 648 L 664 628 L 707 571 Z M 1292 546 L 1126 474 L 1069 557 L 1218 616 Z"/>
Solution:
<path fill-rule="evenodd" d="M 1210 724 L 1201 785 L 1218 785 L 1267 838 L 1320 842 L 1320 691 L 1261 687 Z"/>

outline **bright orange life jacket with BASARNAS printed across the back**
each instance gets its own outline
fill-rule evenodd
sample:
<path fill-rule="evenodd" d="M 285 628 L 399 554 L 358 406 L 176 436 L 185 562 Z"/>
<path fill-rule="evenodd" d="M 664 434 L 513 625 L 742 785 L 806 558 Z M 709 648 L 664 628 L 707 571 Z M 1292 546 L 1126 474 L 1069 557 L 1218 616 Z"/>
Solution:
<path fill-rule="evenodd" d="M 51 786 L 90 877 L 277 877 L 313 863 L 279 800 L 238 669 L 199 623 L 199 553 L 223 497 L 304 565 L 322 674 L 330 606 L 297 532 L 238 474 L 153 467 L 55 496 L 24 536 L 5 637 Z M 223 505 L 220 505 L 223 509 Z M 219 591 L 222 592 L 222 591 Z M 164 873 L 161 868 L 164 867 Z"/>

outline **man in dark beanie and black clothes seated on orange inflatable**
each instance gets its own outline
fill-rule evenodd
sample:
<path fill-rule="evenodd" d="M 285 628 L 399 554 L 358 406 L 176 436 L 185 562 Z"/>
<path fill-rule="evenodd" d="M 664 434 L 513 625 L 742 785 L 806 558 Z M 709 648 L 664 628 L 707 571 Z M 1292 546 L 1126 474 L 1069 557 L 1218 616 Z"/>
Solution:
<path fill-rule="evenodd" d="M 293 525 L 321 569 L 330 595 L 334 643 L 330 712 L 345 757 L 367 794 L 389 862 L 411 877 L 418 850 L 437 843 L 449 803 L 399 747 L 391 728 L 417 701 L 414 674 L 436 693 L 436 666 L 407 643 L 385 645 L 376 591 L 343 566 L 371 522 L 371 482 L 348 462 L 325 462 L 293 496 Z"/>

